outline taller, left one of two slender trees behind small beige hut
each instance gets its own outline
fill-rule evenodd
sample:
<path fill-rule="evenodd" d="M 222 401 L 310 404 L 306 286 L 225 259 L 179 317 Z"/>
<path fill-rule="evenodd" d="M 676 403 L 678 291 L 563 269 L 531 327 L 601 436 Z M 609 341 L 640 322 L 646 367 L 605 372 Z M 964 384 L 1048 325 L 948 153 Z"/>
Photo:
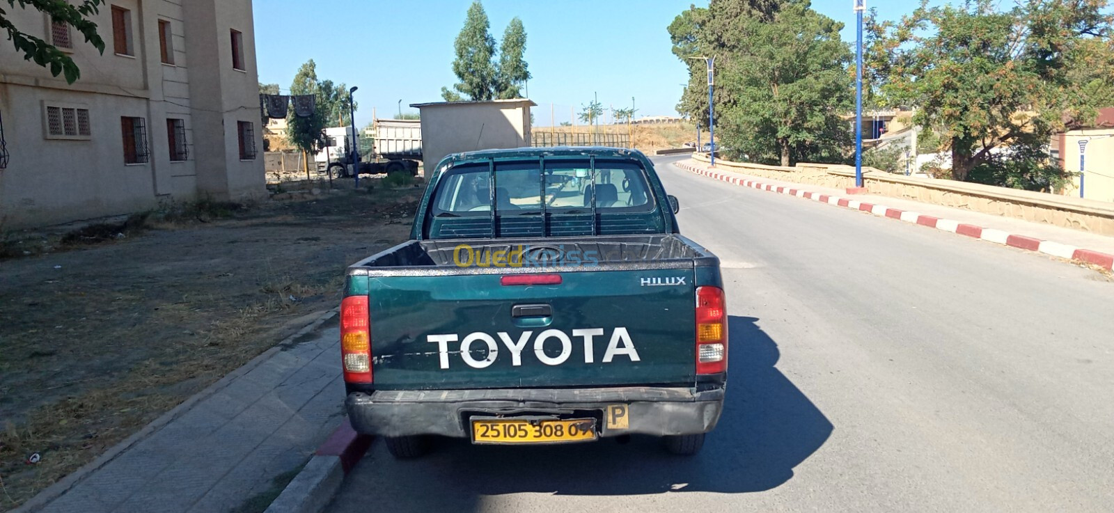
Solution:
<path fill-rule="evenodd" d="M 457 59 L 452 61 L 452 72 L 460 81 L 452 86 L 453 90 L 441 88 L 441 96 L 446 101 L 495 98 L 498 73 L 491 63 L 495 57 L 495 38 L 488 32 L 490 27 L 483 4 L 475 0 L 468 8 L 465 28 L 457 34 L 453 43 Z"/>

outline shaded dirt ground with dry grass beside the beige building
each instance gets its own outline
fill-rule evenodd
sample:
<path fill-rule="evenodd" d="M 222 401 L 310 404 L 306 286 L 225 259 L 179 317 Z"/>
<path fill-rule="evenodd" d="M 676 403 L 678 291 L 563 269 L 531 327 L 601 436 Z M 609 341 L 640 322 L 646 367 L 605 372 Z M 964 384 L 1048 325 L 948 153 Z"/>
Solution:
<path fill-rule="evenodd" d="M 420 187 L 336 186 L 0 260 L 0 511 L 336 307 L 345 266 L 409 236 Z"/>

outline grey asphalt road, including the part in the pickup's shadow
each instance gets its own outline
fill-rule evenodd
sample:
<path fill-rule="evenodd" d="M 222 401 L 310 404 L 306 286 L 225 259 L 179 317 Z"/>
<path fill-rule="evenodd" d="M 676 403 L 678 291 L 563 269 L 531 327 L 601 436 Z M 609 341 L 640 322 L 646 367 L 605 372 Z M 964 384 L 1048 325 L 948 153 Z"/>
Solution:
<path fill-rule="evenodd" d="M 328 511 L 1114 511 L 1114 283 L 656 160 L 729 293 L 704 452 L 377 442 Z"/>

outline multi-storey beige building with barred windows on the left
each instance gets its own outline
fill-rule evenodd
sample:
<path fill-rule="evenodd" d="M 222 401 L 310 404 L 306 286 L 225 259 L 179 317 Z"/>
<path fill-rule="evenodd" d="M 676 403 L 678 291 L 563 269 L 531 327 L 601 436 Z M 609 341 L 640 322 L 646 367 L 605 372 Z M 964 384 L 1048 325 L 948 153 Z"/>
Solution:
<path fill-rule="evenodd" d="M 6 10 L 81 78 L 0 45 L 3 227 L 265 193 L 251 0 L 109 0 L 92 19 L 102 55 L 39 11 Z"/>

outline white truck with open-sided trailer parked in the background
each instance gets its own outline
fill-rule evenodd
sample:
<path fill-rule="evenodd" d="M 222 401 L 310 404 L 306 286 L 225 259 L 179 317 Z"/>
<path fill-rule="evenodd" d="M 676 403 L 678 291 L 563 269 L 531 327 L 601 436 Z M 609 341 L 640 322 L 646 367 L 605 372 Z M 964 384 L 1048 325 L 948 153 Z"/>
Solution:
<path fill-rule="evenodd" d="M 325 129 L 328 146 L 314 156 L 319 171 L 335 177 L 352 175 L 352 127 Z M 421 168 L 421 120 L 375 119 L 356 138 L 360 174 L 410 172 Z"/>

